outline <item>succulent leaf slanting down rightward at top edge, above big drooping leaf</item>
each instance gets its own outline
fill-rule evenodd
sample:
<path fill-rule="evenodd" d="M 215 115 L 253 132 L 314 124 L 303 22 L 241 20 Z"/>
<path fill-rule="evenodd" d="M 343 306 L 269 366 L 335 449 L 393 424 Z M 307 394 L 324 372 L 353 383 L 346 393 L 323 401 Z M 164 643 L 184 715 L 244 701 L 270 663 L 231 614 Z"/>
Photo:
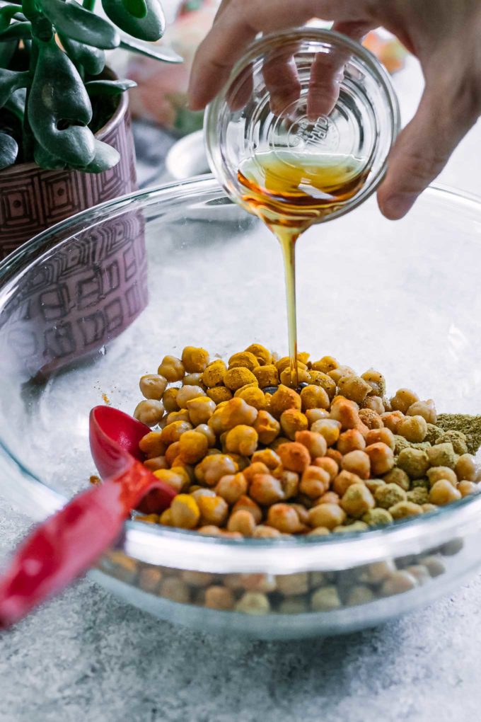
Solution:
<path fill-rule="evenodd" d="M 120 37 L 115 27 L 76 2 L 42 0 L 43 12 L 56 30 L 78 43 L 108 50 L 117 48 Z"/>

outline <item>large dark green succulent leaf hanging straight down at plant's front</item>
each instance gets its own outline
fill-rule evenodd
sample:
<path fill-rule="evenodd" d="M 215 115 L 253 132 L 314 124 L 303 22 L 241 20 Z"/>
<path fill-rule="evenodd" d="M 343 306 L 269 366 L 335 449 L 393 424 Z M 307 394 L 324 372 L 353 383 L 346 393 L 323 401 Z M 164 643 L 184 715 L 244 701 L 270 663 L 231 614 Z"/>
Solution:
<path fill-rule="evenodd" d="M 95 139 L 87 128 L 92 105 L 76 67 L 56 45 L 37 41 L 38 61 L 28 97 L 28 118 L 35 140 L 69 165 L 94 159 Z"/>

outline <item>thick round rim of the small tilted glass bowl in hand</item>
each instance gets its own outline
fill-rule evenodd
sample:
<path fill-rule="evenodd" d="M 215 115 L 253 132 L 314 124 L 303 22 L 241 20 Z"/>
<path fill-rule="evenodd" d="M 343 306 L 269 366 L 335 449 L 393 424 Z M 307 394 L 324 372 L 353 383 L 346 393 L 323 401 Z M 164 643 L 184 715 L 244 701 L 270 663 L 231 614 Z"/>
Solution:
<path fill-rule="evenodd" d="M 248 46 L 244 56 L 242 56 L 242 58 L 234 65 L 229 75 L 229 79 L 227 79 L 226 83 L 224 84 L 218 95 L 216 95 L 216 97 L 211 100 L 211 103 L 207 105 L 206 112 L 204 113 L 203 129 L 208 164 L 213 172 L 213 175 L 216 176 L 222 188 L 224 188 L 224 191 L 226 191 L 226 193 L 229 195 L 229 198 L 231 198 L 232 200 L 238 202 L 237 193 L 235 193 L 233 190 L 234 183 L 231 181 L 230 178 L 224 178 L 223 173 L 221 173 L 224 157 L 222 155 L 220 145 L 214 142 L 214 139 L 219 138 L 219 112 L 221 106 L 225 101 L 226 93 L 229 90 L 231 82 L 236 79 L 239 73 L 241 73 L 247 67 L 247 65 L 252 63 L 252 61 L 254 61 L 255 58 L 260 55 L 260 53 L 268 49 L 275 40 L 278 40 L 278 38 L 283 38 L 284 40 L 293 40 L 293 42 L 299 42 L 301 40 L 315 40 L 318 42 L 325 41 L 327 43 L 332 43 L 332 40 L 335 40 L 338 46 L 347 48 L 348 50 L 352 51 L 353 56 L 356 56 L 356 58 L 361 58 L 361 60 L 369 67 L 369 69 L 373 71 L 374 76 L 381 83 L 382 89 L 384 90 L 387 101 L 389 103 L 389 110 L 391 111 L 392 119 L 392 140 L 391 145 L 386 153 L 386 157 L 384 157 L 382 165 L 380 166 L 376 175 L 374 175 L 374 177 L 369 181 L 369 183 L 364 184 L 361 192 L 354 197 L 353 201 L 343 204 L 334 212 L 332 212 L 328 217 L 320 221 L 321 223 L 325 223 L 328 220 L 339 218 L 348 211 L 357 208 L 361 203 L 363 203 L 363 201 L 366 201 L 369 196 L 371 196 L 377 190 L 377 188 L 379 188 L 387 170 L 387 157 L 389 155 L 389 151 L 392 148 L 392 145 L 397 138 L 397 134 L 400 131 L 401 113 L 399 101 L 397 100 L 397 95 L 394 91 L 394 87 L 389 77 L 389 73 L 384 68 L 384 65 L 381 64 L 381 62 L 376 58 L 374 53 L 371 53 L 371 51 L 369 51 L 367 48 L 364 48 L 363 45 L 361 45 L 360 43 L 356 43 L 355 40 L 348 38 L 347 35 L 343 35 L 343 33 L 341 32 L 337 32 L 336 30 L 327 30 L 326 28 L 321 27 L 313 27 L 312 25 L 304 25 L 302 27 L 295 27 L 294 29 L 290 30 L 271 32 L 268 35 L 263 35 L 262 38 L 259 38 L 258 40 L 254 40 L 254 42 Z"/>

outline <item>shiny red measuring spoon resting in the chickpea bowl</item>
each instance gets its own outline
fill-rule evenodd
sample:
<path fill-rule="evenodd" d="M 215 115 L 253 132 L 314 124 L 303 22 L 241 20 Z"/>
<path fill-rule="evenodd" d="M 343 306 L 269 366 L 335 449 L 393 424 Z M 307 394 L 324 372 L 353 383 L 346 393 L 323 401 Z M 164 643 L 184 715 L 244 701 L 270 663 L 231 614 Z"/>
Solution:
<path fill-rule="evenodd" d="M 120 536 L 138 508 L 167 509 L 175 490 L 141 464 L 150 431 L 109 406 L 90 413 L 90 448 L 104 482 L 74 497 L 27 536 L 0 578 L 0 627 L 14 624 L 84 573 Z"/>

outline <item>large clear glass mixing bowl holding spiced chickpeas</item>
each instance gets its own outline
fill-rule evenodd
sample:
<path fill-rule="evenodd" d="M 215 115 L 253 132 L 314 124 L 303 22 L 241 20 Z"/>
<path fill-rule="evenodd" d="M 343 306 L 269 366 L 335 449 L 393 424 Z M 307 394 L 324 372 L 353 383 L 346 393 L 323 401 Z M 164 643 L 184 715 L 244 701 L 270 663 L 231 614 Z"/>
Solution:
<path fill-rule="evenodd" d="M 371 366 L 440 412 L 481 409 L 481 203 L 430 188 L 400 222 L 371 199 L 298 245 L 299 342 Z M 0 492 L 40 520 L 94 473 L 88 416 L 133 412 L 138 378 L 187 344 L 286 353 L 281 252 L 212 178 L 84 212 L 0 265 Z M 92 571 L 163 619 L 258 638 L 410 612 L 481 561 L 481 497 L 382 531 L 233 541 L 128 521 Z M 418 581 L 386 585 L 395 569 Z M 398 582 L 402 575 L 397 575 Z M 243 611 L 205 606 L 229 587 Z M 247 595 L 247 596 L 246 596 Z M 257 613 L 255 613 L 257 612 Z"/>

